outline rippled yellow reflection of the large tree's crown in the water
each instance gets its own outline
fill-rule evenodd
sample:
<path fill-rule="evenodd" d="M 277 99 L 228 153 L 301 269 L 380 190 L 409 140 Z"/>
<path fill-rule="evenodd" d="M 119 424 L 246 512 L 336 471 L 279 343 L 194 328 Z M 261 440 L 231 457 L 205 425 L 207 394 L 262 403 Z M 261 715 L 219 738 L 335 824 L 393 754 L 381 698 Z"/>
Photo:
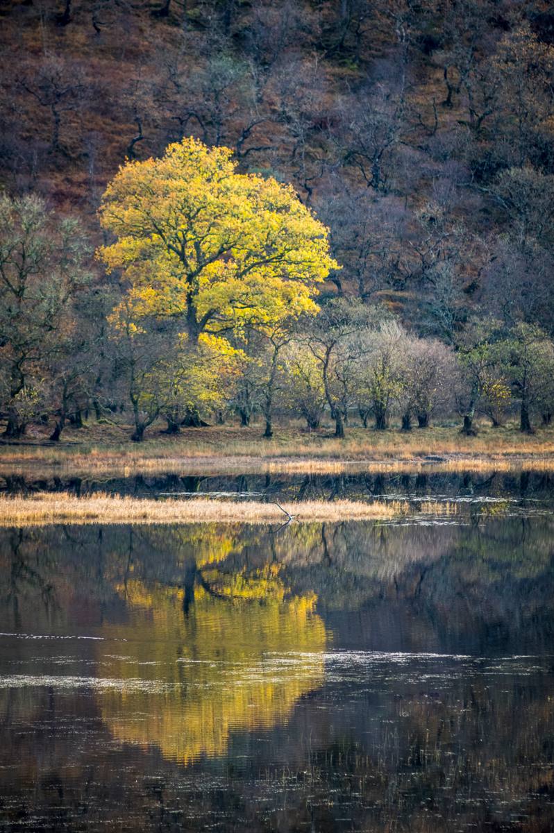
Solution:
<path fill-rule="evenodd" d="M 321 685 L 326 631 L 315 596 L 287 599 L 276 573 L 210 571 L 187 616 L 180 589 L 135 580 L 118 588 L 131 621 L 106 626 L 105 636 L 126 639 L 126 656 L 102 656 L 102 676 L 124 682 L 102 694 L 101 707 L 119 741 L 155 745 L 185 764 L 220 756 L 232 731 L 286 721 Z"/>

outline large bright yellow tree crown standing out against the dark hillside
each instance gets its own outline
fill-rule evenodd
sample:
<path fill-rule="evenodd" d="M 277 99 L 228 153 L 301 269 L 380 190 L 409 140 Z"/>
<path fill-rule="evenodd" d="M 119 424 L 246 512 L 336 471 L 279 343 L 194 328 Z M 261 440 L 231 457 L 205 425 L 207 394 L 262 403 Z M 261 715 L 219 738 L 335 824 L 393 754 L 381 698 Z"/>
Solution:
<path fill-rule="evenodd" d="M 229 148 L 193 138 L 127 161 L 100 218 L 116 241 L 98 255 L 127 278 L 137 315 L 177 317 L 189 343 L 317 312 L 317 284 L 338 267 L 292 187 L 237 173 Z"/>

